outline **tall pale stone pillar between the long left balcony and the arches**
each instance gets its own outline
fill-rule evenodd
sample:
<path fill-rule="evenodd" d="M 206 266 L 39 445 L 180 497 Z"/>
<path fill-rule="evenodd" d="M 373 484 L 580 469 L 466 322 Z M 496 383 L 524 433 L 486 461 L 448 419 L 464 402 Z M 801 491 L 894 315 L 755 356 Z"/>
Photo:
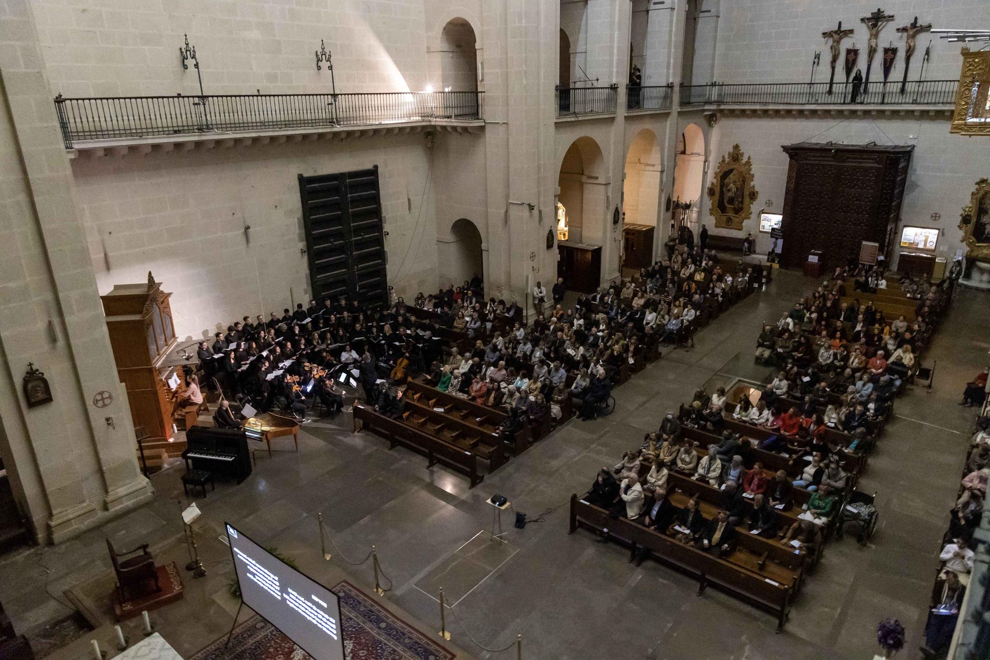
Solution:
<path fill-rule="evenodd" d="M 558 52 L 545 46 L 557 43 L 559 8 L 485 0 L 483 10 L 491 295 L 523 304 L 538 280 L 548 288 L 556 279 L 556 250 L 546 249 L 545 236 L 554 228 Z"/>

